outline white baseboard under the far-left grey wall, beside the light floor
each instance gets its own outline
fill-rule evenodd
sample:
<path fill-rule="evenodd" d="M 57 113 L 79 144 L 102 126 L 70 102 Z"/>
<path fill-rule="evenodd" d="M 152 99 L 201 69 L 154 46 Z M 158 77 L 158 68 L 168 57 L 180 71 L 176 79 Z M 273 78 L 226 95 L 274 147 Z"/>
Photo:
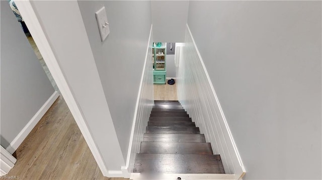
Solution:
<path fill-rule="evenodd" d="M 26 124 L 26 126 L 19 132 L 16 138 L 10 143 L 10 145 L 6 148 L 6 150 L 13 154 L 20 144 L 25 140 L 27 135 L 31 132 L 31 130 L 36 126 L 39 120 L 44 116 L 50 106 L 55 102 L 55 100 L 59 97 L 59 93 L 55 91 L 49 99 L 45 102 L 43 106 L 37 111 L 37 113 L 31 118 L 31 120 Z"/>

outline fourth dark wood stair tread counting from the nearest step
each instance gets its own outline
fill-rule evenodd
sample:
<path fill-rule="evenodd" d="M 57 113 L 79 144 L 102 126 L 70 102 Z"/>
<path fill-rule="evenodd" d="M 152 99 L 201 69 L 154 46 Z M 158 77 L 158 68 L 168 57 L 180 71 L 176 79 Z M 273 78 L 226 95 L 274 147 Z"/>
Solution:
<path fill-rule="evenodd" d="M 200 133 L 199 127 L 147 126 L 146 133 Z"/>

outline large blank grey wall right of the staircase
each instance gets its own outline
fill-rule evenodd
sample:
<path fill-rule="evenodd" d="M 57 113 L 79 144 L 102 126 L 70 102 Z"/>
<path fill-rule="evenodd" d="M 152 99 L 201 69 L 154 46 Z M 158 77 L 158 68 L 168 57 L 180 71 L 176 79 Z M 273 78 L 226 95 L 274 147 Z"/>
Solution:
<path fill-rule="evenodd" d="M 321 179 L 321 2 L 190 2 L 244 179 Z"/>

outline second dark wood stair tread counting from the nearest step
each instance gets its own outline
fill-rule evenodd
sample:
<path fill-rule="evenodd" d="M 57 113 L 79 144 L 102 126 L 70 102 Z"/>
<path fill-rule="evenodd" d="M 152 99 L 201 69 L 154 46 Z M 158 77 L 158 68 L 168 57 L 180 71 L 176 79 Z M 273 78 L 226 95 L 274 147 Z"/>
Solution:
<path fill-rule="evenodd" d="M 140 153 L 212 154 L 209 142 L 141 142 Z"/>

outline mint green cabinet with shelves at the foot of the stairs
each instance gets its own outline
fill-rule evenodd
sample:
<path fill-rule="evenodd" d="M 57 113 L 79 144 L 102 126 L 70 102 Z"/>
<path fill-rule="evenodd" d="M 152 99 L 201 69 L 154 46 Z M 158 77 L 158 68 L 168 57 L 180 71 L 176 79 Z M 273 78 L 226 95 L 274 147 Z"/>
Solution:
<path fill-rule="evenodd" d="M 166 47 L 152 47 L 154 84 L 166 84 L 166 53 Z"/>

